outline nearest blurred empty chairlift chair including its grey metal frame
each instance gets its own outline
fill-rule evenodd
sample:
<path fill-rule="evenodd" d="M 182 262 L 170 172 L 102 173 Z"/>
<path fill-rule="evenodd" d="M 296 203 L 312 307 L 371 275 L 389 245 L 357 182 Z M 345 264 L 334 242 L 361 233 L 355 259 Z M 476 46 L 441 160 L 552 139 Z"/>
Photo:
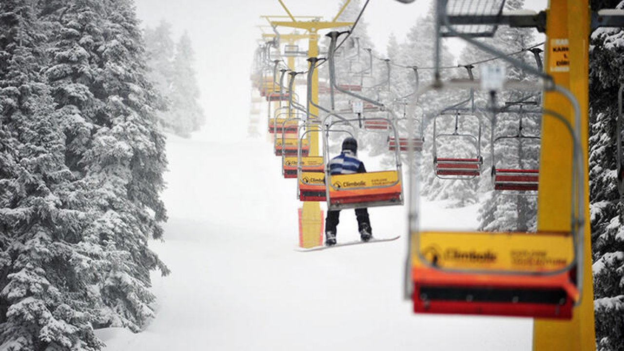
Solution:
<path fill-rule="evenodd" d="M 452 23 L 470 20 L 479 24 L 485 11 L 502 10 L 499 6 L 480 6 L 483 2 L 449 0 L 436 2 L 439 16 L 435 28 L 437 41 L 445 34 L 466 39 L 480 49 L 499 52 L 484 42 L 474 40 L 483 34 L 480 28 L 464 31 Z M 449 11 L 459 9 L 461 12 Z M 461 7 L 462 5 L 468 7 Z M 471 6 L 479 6 L 479 12 L 470 12 Z M 446 8 L 445 8 L 446 7 Z M 494 12 L 494 15 L 496 12 Z M 452 19 L 451 16 L 455 16 Z M 451 17 L 451 18 L 449 18 Z M 494 16 L 492 16 L 494 17 Z M 453 22 L 454 21 L 454 22 Z M 444 26 L 444 27 L 442 27 Z M 495 26 L 492 26 L 495 27 Z M 494 32 L 494 30 L 490 32 Z M 544 76 L 530 66 L 523 65 L 504 54 L 496 55 L 525 71 Z M 436 60 L 439 69 L 440 60 Z M 439 71 L 438 71 L 439 72 Z M 545 79 L 547 81 L 547 79 Z M 406 293 L 412 299 L 413 310 L 417 313 L 502 315 L 544 319 L 571 319 L 574 307 L 580 299 L 587 298 L 583 290 L 584 232 L 587 221 L 584 218 L 585 171 L 580 137 L 581 112 L 578 101 L 572 92 L 555 85 L 528 81 L 514 81 L 517 87 L 527 91 L 539 91 L 547 87 L 565 97 L 574 111 L 573 122 L 557 112 L 544 111 L 562 122 L 572 139 L 572 167 L 561 170 L 572 172 L 570 196 L 570 227 L 561 232 L 422 232 L 417 227 L 417 196 L 411 197 L 409 225 L 412 236 L 409 241 L 410 257 L 407 269 Z M 441 86 L 454 86 L 454 82 L 437 81 L 429 89 Z M 459 86 L 456 84 L 455 86 Z M 576 129 L 576 130 L 575 130 Z M 566 150 L 568 148 L 566 147 Z M 550 152 L 558 152 L 553 149 Z M 551 155 L 555 156 L 555 155 Z M 567 156 L 559 155 L 556 156 Z M 416 182 L 411 182 L 416 184 Z M 417 192 L 412 187 L 411 194 Z M 591 289 L 591 288 L 590 288 Z M 588 298 L 591 299 L 591 294 Z"/>

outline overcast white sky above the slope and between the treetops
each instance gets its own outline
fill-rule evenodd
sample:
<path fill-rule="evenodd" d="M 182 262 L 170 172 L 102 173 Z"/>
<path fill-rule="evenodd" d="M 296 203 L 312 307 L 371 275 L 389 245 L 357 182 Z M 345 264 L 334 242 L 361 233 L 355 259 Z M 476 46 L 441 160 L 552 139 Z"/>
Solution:
<path fill-rule="evenodd" d="M 323 16 L 331 20 L 338 12 L 338 0 L 283 0 L 295 16 Z M 249 69 L 253 51 L 260 37 L 258 25 L 265 24 L 261 15 L 285 15 L 278 0 L 136 0 L 139 18 L 155 26 L 160 19 L 173 25 L 179 36 L 188 31 L 196 52 L 196 69 L 202 91 L 202 104 L 208 114 L 209 129 L 217 114 L 220 122 L 246 122 Z M 364 0 L 361 1 L 364 4 Z M 526 0 L 530 9 L 544 9 L 547 0 Z M 429 6 L 429 1 L 416 0 L 401 4 L 395 0 L 371 0 L 363 19 L 379 52 L 385 51 L 391 33 L 401 41 L 414 21 Z M 230 132 L 245 132 L 235 127 Z M 219 134 L 223 136 L 223 132 Z"/>

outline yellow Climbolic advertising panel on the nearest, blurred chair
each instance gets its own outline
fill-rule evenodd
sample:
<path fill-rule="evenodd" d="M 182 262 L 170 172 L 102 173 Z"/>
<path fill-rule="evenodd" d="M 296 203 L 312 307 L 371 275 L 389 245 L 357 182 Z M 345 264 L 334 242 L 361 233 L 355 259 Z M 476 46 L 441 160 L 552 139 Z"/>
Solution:
<path fill-rule="evenodd" d="M 568 233 L 421 232 L 413 242 L 427 262 L 447 269 L 550 272 L 574 258 Z"/>

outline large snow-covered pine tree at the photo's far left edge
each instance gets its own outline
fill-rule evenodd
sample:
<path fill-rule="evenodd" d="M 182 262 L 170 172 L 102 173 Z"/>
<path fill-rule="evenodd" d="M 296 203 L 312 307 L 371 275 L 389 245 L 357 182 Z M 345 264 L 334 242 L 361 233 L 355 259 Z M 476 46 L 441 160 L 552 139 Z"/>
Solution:
<path fill-rule="evenodd" d="M 35 9 L 0 3 L 0 349 L 99 350 L 72 261 L 86 216 L 65 205 L 74 175 Z"/>

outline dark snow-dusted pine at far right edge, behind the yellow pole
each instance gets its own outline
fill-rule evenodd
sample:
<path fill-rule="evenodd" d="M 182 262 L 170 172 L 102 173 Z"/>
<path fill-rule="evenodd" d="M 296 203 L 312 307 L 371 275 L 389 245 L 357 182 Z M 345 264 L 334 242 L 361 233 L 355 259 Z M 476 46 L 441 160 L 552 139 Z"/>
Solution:
<path fill-rule="evenodd" d="M 592 9 L 613 8 L 615 2 Z M 624 7 L 624 2 L 617 4 Z M 617 93 L 624 82 L 624 31 L 598 29 L 590 46 L 590 221 L 599 351 L 624 350 L 624 205 L 617 190 Z"/>

